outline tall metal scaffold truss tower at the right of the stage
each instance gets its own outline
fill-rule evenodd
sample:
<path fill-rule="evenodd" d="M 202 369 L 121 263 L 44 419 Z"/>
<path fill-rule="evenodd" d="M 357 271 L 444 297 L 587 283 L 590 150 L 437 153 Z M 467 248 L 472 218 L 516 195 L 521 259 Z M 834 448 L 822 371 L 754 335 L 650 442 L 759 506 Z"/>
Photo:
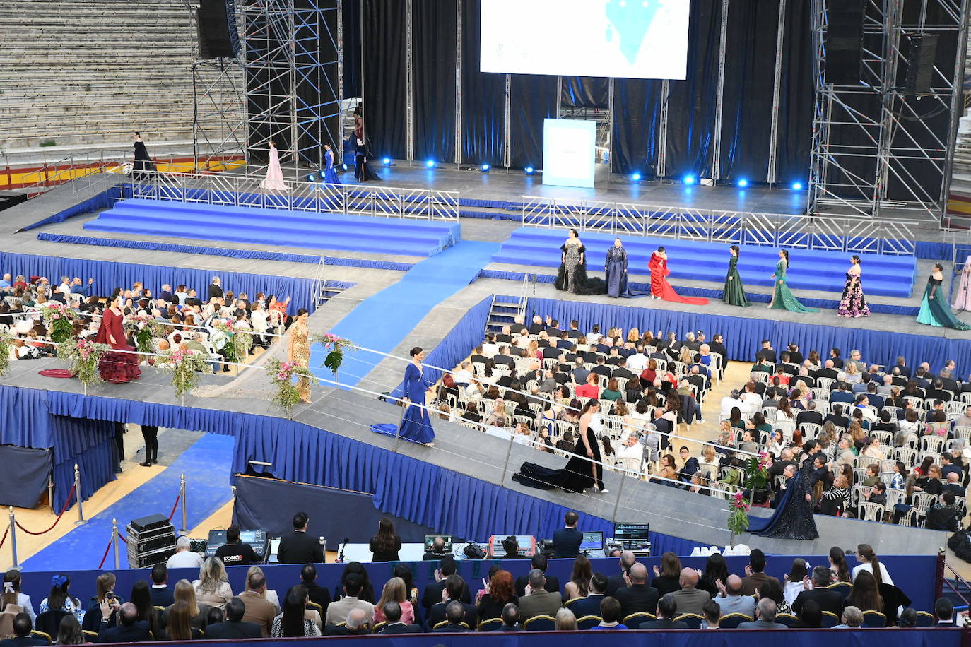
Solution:
<path fill-rule="evenodd" d="M 830 0 L 813 0 L 816 101 L 808 212 L 939 223 L 947 209 L 969 0 L 867 0 L 860 82 L 830 82 Z M 931 88 L 907 93 L 899 74 L 914 36 L 956 40 L 954 61 L 933 68 Z M 947 131 L 941 120 L 947 121 Z"/>

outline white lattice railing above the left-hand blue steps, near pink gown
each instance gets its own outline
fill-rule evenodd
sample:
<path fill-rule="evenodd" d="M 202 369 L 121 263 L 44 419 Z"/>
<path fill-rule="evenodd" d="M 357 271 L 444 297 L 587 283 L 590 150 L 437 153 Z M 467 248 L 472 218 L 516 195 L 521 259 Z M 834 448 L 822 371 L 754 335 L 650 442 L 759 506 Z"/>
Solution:
<path fill-rule="evenodd" d="M 352 213 L 417 220 L 457 220 L 458 191 L 327 184 L 288 180 L 284 190 L 263 188 L 263 178 L 228 173 L 139 172 L 132 197 L 232 207 Z"/>

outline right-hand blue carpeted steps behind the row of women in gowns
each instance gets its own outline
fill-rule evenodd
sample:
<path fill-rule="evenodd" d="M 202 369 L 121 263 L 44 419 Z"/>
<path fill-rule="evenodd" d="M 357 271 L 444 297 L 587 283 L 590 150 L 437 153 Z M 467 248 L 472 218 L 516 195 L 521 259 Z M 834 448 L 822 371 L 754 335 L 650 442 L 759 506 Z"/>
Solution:
<path fill-rule="evenodd" d="M 728 268 L 728 245 L 697 243 L 669 239 L 620 237 L 627 250 L 629 271 L 648 275 L 648 259 L 658 245 L 664 245 L 670 259 L 671 276 L 675 279 L 724 280 Z M 614 244 L 609 234 L 585 233 L 588 272 L 602 272 L 607 248 Z M 559 246 L 566 232 L 555 229 L 520 227 L 492 256 L 493 263 L 559 266 Z M 796 290 L 842 292 L 851 254 L 807 249 L 789 250 L 788 285 Z M 863 268 L 863 290 L 870 296 L 908 298 L 914 289 L 917 260 L 913 256 L 859 254 Z M 746 286 L 772 285 L 772 273 L 779 261 L 779 249 L 744 245 L 739 272 Z"/>

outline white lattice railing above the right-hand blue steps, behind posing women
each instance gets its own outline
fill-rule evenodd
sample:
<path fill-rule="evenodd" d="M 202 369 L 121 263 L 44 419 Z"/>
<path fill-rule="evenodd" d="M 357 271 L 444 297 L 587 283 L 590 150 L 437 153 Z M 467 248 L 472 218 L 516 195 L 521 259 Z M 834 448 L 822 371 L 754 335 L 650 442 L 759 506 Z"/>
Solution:
<path fill-rule="evenodd" d="M 913 256 L 921 223 L 522 197 L 522 225 L 614 236 Z"/>

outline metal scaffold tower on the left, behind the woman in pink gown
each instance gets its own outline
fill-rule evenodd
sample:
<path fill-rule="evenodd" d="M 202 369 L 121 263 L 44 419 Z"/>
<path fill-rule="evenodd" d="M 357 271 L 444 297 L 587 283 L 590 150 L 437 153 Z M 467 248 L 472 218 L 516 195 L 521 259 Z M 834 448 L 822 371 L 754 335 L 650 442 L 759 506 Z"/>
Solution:
<path fill-rule="evenodd" d="M 246 57 L 247 162 L 269 141 L 286 173 L 319 168 L 323 145 L 341 155 L 342 0 L 242 0 Z"/>

